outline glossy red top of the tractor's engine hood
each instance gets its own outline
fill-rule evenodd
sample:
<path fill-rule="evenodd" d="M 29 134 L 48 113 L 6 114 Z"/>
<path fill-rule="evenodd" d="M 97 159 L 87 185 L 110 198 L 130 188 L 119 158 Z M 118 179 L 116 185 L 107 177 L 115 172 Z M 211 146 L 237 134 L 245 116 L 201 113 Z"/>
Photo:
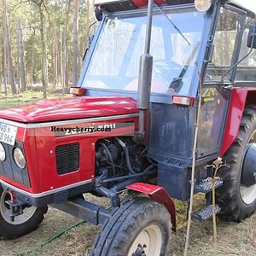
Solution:
<path fill-rule="evenodd" d="M 43 100 L 34 105 L 0 111 L 0 118 L 24 123 L 84 119 L 137 113 L 137 103 L 127 96 L 73 97 Z"/>

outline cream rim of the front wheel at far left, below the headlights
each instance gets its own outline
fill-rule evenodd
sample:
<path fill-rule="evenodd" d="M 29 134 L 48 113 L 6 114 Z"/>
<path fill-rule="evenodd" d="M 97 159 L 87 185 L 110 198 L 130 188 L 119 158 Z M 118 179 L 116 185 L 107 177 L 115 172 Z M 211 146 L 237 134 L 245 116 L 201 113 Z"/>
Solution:
<path fill-rule="evenodd" d="M 1 198 L 0 198 L 0 213 L 3 219 L 13 225 L 24 224 L 30 218 L 32 218 L 33 214 L 37 211 L 37 207 L 25 207 L 23 208 L 23 213 L 19 216 L 15 217 L 14 221 L 11 221 L 9 218 L 7 211 L 9 211 L 9 205 L 5 203 L 5 201 L 9 200 L 9 194 L 6 191 L 3 191 Z"/>

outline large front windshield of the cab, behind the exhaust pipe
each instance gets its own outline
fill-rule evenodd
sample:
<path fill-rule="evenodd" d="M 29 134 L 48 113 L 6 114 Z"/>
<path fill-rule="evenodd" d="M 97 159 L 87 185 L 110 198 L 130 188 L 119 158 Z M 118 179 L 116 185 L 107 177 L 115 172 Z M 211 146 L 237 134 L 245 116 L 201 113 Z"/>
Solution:
<path fill-rule="evenodd" d="M 196 90 L 191 84 L 196 79 L 198 83 L 195 62 L 206 43 L 203 35 L 209 17 L 197 11 L 193 1 L 183 2 L 154 3 L 150 44 L 154 59 L 152 102 L 172 103 L 174 95 L 195 97 Z M 108 95 L 118 92 L 137 98 L 140 56 L 147 28 L 147 6 L 140 7 L 142 4 L 143 1 L 113 1 L 99 5 L 105 10 L 103 20 L 79 80 L 79 86 L 88 95 L 97 95 L 98 91 Z"/>

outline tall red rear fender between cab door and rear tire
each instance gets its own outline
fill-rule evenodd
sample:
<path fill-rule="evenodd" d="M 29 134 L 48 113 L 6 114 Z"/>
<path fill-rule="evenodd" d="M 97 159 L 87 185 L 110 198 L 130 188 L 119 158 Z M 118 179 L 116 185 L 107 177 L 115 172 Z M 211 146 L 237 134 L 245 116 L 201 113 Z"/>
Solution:
<path fill-rule="evenodd" d="M 220 156 L 225 154 L 237 137 L 241 124 L 242 113 L 247 100 L 247 91 L 248 90 L 246 89 L 233 90 L 226 126 L 224 129 L 223 143 L 220 149 Z"/>

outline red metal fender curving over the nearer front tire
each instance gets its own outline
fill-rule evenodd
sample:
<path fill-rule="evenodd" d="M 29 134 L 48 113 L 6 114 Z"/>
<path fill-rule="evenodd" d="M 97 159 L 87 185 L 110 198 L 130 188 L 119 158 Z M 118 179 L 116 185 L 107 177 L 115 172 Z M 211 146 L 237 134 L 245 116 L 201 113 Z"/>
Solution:
<path fill-rule="evenodd" d="M 164 205 L 171 214 L 172 230 L 176 231 L 176 209 L 172 197 L 166 192 L 166 189 L 147 183 L 133 183 L 126 186 L 127 189 L 135 190 L 143 194 L 147 194 L 154 201 Z"/>

